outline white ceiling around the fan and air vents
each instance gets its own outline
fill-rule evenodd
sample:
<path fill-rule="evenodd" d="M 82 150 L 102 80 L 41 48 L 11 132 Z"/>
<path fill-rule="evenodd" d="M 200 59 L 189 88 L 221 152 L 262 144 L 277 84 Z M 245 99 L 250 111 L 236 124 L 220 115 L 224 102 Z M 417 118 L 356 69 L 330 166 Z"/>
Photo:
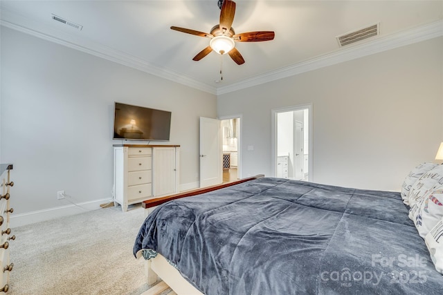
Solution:
<path fill-rule="evenodd" d="M 209 39 L 170 30 L 209 32 L 219 23 L 217 0 L 1 0 L 0 8 L 3 26 L 215 94 L 443 35 L 443 0 L 235 2 L 235 32 L 275 31 L 273 41 L 236 43 L 246 61 L 241 66 L 214 52 L 192 61 Z M 336 36 L 373 23 L 380 23 L 378 37 L 338 46 Z"/>

